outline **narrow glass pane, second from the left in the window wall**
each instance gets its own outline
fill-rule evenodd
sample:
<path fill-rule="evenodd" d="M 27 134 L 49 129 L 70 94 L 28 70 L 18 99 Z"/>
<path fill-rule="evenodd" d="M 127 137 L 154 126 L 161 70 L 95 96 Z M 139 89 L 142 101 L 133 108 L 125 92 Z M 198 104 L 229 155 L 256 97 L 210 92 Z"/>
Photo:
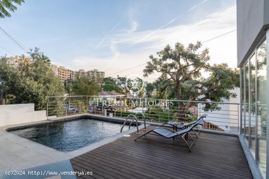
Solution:
<path fill-rule="evenodd" d="M 248 71 L 248 61 L 247 61 L 247 63 L 245 64 L 245 85 L 244 85 L 244 87 L 245 87 L 245 118 L 244 118 L 244 120 L 245 120 L 245 138 L 246 138 L 246 140 L 247 140 L 247 143 L 248 143 L 248 136 L 249 136 L 249 126 L 248 126 L 248 124 L 249 124 L 249 117 L 248 117 L 248 115 L 249 115 L 249 100 L 248 100 L 248 80 L 249 80 L 249 71 Z"/>

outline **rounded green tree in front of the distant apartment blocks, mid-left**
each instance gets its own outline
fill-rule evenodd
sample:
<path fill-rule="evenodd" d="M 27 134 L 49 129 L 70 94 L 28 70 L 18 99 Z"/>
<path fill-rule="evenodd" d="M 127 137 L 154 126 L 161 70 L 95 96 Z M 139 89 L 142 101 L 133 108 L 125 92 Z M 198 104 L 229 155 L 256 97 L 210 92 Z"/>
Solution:
<path fill-rule="evenodd" d="M 71 84 L 71 92 L 74 95 L 81 96 L 96 96 L 100 91 L 100 84 L 94 78 L 90 77 L 90 74 L 79 75 L 76 74 L 75 79 Z"/>

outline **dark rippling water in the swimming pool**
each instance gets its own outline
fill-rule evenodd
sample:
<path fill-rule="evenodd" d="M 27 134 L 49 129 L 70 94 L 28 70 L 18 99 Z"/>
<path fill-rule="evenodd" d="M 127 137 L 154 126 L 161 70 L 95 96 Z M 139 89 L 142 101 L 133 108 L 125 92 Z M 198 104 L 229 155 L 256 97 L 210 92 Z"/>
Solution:
<path fill-rule="evenodd" d="M 122 124 L 78 119 L 10 131 L 53 149 L 68 152 L 120 133 Z M 131 126 L 132 127 L 132 126 Z M 123 131 L 128 130 L 125 125 Z"/>

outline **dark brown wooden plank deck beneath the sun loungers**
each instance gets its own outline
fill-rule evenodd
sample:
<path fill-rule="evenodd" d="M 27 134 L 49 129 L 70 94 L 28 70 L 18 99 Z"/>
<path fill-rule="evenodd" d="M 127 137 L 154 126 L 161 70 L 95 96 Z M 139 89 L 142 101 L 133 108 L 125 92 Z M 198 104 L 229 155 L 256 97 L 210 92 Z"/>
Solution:
<path fill-rule="evenodd" d="M 201 133 L 189 152 L 178 146 L 184 144 L 180 139 L 175 146 L 170 145 L 173 139 L 147 135 L 134 141 L 137 136 L 133 133 L 71 159 L 74 171 L 93 172 L 77 179 L 252 179 L 237 137 Z"/>

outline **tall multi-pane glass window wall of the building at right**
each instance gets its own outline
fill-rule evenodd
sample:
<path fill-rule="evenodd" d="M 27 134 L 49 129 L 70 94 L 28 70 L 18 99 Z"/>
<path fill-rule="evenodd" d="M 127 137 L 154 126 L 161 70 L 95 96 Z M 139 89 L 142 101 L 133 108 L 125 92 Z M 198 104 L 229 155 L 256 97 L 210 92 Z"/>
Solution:
<path fill-rule="evenodd" d="M 266 50 L 266 40 L 263 40 L 240 69 L 241 134 L 264 178 L 266 178 L 267 145 Z"/>

